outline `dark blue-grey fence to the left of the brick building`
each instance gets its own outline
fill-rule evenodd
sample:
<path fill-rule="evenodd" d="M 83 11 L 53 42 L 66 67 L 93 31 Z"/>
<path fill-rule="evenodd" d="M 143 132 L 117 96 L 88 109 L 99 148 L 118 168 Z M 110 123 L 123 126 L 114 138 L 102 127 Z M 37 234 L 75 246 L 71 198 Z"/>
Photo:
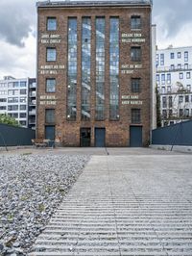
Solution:
<path fill-rule="evenodd" d="M 36 132 L 32 129 L 0 123 L 0 146 L 32 145 Z"/>

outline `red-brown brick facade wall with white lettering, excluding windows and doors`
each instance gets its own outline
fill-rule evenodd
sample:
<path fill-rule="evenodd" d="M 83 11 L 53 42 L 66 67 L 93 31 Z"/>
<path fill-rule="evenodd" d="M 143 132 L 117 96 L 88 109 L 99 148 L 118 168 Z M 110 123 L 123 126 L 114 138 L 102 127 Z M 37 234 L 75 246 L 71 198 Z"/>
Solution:
<path fill-rule="evenodd" d="M 91 128 L 91 146 L 95 145 L 95 128 L 106 128 L 106 146 L 130 146 L 130 127 L 142 127 L 142 145 L 149 142 L 151 108 L 151 6 L 79 7 L 39 6 L 37 41 L 37 123 L 36 137 L 45 138 L 45 109 L 55 109 L 55 137 L 65 146 L 80 146 L 81 128 Z M 131 29 L 132 15 L 141 17 L 141 29 Z M 57 31 L 47 31 L 47 17 L 57 18 Z M 78 20 L 77 120 L 68 121 L 67 105 L 67 20 Z M 91 17 L 91 117 L 81 120 L 81 30 L 82 17 Z M 95 18 L 106 18 L 105 120 L 95 120 Z M 109 120 L 109 18 L 119 17 L 119 120 Z M 47 36 L 49 35 L 49 36 Z M 58 35 L 58 36 L 57 36 Z M 60 36 L 60 37 L 59 37 Z M 54 41 L 56 39 L 56 41 Z M 46 62 L 46 47 L 56 47 L 57 62 Z M 131 47 L 141 46 L 141 62 L 131 60 Z M 53 65 L 53 66 L 51 66 Z M 133 66 L 132 66 L 133 65 Z M 141 79 L 141 92 L 133 93 L 131 79 Z M 56 92 L 47 93 L 47 78 L 56 78 Z M 141 110 L 141 122 L 132 123 L 132 108 Z"/>

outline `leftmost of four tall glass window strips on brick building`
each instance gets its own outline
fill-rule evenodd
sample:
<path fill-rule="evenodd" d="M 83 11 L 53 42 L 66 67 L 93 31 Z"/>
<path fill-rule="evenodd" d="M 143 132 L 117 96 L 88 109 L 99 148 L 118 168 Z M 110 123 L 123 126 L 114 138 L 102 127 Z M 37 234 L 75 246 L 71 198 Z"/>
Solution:
<path fill-rule="evenodd" d="M 77 116 L 77 18 L 68 18 L 67 119 Z"/>

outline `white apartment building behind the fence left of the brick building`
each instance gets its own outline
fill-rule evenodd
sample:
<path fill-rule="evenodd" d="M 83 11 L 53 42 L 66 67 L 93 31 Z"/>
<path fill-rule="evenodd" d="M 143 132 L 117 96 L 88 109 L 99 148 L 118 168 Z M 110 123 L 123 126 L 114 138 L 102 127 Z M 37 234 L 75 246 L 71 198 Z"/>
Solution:
<path fill-rule="evenodd" d="M 11 115 L 22 127 L 36 127 L 36 91 L 33 88 L 36 88 L 35 79 L 7 76 L 0 80 L 0 114 Z"/>

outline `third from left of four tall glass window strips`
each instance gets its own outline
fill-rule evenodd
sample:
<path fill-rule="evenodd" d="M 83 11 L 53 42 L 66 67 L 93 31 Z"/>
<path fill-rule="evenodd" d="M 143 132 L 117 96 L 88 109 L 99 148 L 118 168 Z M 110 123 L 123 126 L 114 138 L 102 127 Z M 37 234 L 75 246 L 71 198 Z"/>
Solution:
<path fill-rule="evenodd" d="M 96 18 L 96 120 L 105 119 L 105 17 Z"/>

